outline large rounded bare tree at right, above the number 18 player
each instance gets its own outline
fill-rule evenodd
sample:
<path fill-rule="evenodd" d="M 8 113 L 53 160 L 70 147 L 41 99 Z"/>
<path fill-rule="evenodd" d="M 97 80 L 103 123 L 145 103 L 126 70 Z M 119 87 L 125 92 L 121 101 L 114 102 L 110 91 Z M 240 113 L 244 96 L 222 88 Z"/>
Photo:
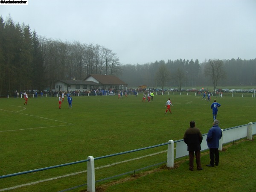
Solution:
<path fill-rule="evenodd" d="M 209 59 L 204 68 L 204 75 L 211 77 L 213 90 L 215 90 L 218 82 L 221 79 L 226 78 L 226 71 L 224 70 L 224 64 L 219 59 L 217 60 Z"/>

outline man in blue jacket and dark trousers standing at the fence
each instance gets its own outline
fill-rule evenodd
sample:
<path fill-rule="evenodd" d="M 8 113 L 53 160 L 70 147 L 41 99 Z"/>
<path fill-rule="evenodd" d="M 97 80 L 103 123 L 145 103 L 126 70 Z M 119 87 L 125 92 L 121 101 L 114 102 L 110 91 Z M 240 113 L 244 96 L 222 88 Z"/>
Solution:
<path fill-rule="evenodd" d="M 207 133 L 206 141 L 210 151 L 210 164 L 206 165 L 208 167 L 214 167 L 214 162 L 215 162 L 215 166 L 218 166 L 219 164 L 218 147 L 219 147 L 219 140 L 222 137 L 222 131 L 221 131 L 221 128 L 218 126 L 218 124 L 219 124 L 219 121 L 215 119 L 213 121 L 212 128 L 210 128 Z"/>

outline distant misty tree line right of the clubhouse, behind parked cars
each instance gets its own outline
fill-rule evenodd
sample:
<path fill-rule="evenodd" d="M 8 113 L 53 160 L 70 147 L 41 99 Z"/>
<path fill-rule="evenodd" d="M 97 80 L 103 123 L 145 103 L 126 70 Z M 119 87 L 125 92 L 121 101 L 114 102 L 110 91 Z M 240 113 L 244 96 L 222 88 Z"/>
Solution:
<path fill-rule="evenodd" d="M 256 58 L 242 60 L 209 59 L 199 63 L 198 59 L 177 59 L 155 61 L 147 64 L 122 65 L 119 76 L 131 87 L 147 85 L 147 87 L 167 86 L 251 86 L 256 88 Z"/>

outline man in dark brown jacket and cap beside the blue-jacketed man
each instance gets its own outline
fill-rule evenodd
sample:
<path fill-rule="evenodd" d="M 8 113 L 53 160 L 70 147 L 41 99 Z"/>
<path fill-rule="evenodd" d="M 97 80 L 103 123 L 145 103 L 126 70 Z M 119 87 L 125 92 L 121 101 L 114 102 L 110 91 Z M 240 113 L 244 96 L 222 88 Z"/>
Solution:
<path fill-rule="evenodd" d="M 184 142 L 188 145 L 189 151 L 189 170 L 194 169 L 194 153 L 196 157 L 197 170 L 202 170 L 201 167 L 201 143 L 203 140 L 202 134 L 198 128 L 195 127 L 195 121 L 190 122 L 190 128 L 188 128 L 184 134 Z"/>

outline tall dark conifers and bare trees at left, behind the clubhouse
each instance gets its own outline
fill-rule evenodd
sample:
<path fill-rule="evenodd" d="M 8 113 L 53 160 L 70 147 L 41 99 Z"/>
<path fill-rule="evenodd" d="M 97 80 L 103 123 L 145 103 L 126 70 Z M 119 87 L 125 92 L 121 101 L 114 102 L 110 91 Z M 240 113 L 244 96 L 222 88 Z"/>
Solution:
<path fill-rule="evenodd" d="M 121 72 L 116 53 L 107 47 L 38 36 L 11 16 L 0 17 L 0 95 L 52 89 L 57 80 L 83 80 L 90 74 Z"/>

